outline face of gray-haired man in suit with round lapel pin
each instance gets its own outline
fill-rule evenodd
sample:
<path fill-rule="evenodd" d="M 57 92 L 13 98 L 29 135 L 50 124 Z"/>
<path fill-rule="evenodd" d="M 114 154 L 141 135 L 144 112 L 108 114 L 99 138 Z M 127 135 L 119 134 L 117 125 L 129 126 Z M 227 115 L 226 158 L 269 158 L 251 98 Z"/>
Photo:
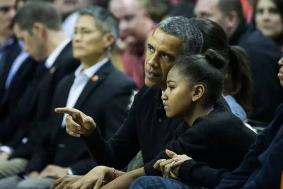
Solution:
<path fill-rule="evenodd" d="M 91 15 L 79 16 L 73 38 L 73 55 L 83 59 L 87 57 L 98 58 L 105 52 L 104 35 L 95 24 Z"/>

